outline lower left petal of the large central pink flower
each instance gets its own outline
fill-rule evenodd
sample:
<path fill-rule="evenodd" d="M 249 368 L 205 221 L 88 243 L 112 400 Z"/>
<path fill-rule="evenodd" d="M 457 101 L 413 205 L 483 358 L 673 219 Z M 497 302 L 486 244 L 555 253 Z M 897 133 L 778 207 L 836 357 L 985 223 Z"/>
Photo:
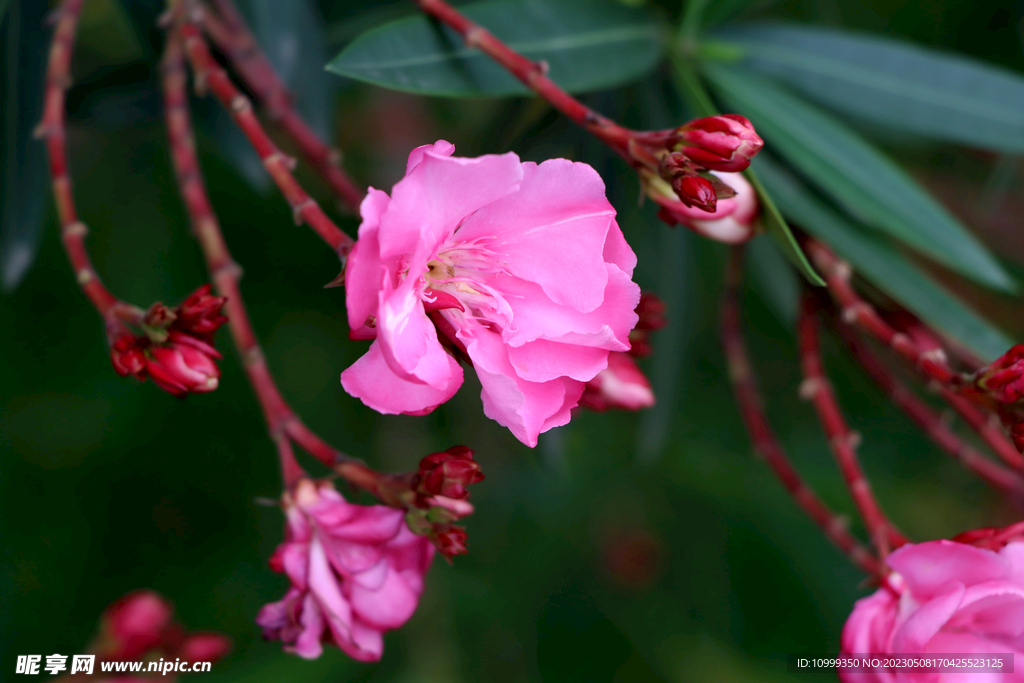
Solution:
<path fill-rule="evenodd" d="M 341 374 L 341 385 L 378 413 L 426 415 L 454 396 L 462 386 L 462 367 L 452 356 L 447 358 L 451 380 L 443 390 L 438 390 L 400 379 L 384 360 L 380 340 L 375 340 L 370 350 Z"/>

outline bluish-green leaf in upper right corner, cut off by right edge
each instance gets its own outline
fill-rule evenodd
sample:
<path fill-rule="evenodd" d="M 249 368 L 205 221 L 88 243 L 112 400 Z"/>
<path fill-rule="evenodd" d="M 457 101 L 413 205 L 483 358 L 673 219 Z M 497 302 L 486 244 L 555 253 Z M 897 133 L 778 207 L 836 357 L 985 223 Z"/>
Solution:
<path fill-rule="evenodd" d="M 757 24 L 716 38 L 743 48 L 744 66 L 886 128 L 1024 153 L 1024 77 L 962 55 L 883 36 Z"/>

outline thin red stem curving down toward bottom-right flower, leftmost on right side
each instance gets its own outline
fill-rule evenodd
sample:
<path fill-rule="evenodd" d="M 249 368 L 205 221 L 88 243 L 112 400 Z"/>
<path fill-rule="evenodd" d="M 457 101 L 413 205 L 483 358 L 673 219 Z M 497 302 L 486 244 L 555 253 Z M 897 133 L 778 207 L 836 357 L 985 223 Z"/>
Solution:
<path fill-rule="evenodd" d="M 746 353 L 740 322 L 739 285 L 742 272 L 742 250 L 731 251 L 726 274 L 726 288 L 722 300 L 722 344 L 729 366 L 729 379 L 736 396 L 743 425 L 750 434 L 755 452 L 764 459 L 782 483 L 786 493 L 814 523 L 858 567 L 867 573 L 880 571 L 874 555 L 854 539 L 846 528 L 845 520 L 834 513 L 814 492 L 804 483 L 793 467 L 788 456 L 772 431 L 764 413 L 757 378 Z"/>

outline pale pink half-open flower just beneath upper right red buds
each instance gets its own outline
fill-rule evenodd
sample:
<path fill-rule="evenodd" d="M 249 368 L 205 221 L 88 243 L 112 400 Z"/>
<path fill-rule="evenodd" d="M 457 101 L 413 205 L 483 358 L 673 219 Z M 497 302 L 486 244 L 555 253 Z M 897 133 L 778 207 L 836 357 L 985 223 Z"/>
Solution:
<path fill-rule="evenodd" d="M 658 179 L 648 178 L 648 194 L 662 207 L 660 216 L 670 224 L 681 223 L 698 234 L 726 244 L 746 242 L 755 236 L 754 223 L 760 211 L 757 193 L 741 173 L 713 172 L 735 190 L 734 197 L 720 198 L 715 211 L 689 207 L 674 191 L 658 191 Z"/>

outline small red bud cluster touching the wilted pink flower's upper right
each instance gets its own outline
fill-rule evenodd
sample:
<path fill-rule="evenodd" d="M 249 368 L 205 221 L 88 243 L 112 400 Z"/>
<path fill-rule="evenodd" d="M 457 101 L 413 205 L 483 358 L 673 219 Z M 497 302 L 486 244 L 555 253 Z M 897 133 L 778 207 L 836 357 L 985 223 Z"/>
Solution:
<path fill-rule="evenodd" d="M 429 537 L 449 561 L 465 554 L 466 529 L 453 522 L 473 512 L 466 486 L 482 480 L 479 463 L 464 445 L 425 457 L 412 481 L 414 499 L 406 514 L 409 528 Z"/>

